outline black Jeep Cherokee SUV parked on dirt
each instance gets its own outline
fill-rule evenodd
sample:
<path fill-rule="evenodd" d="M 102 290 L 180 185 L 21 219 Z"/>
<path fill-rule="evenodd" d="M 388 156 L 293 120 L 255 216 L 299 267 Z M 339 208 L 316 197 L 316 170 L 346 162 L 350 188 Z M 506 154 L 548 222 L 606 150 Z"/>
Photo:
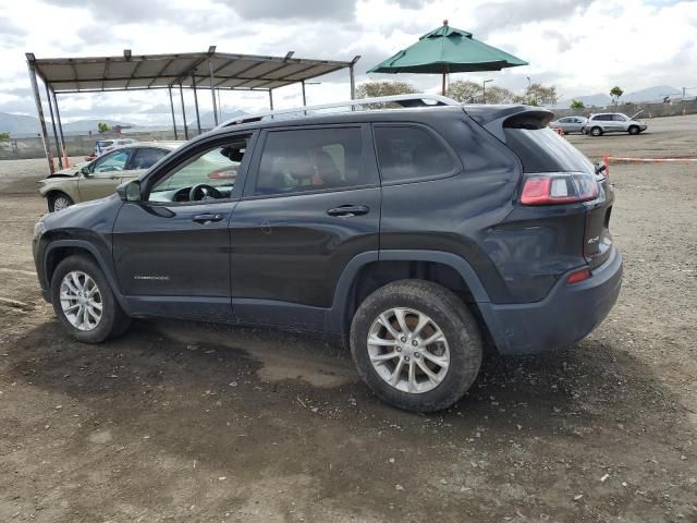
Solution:
<path fill-rule="evenodd" d="M 551 118 L 457 105 L 223 126 L 44 217 L 44 295 L 87 343 L 148 316 L 344 335 L 377 396 L 447 408 L 485 344 L 573 345 L 620 292 L 613 191 Z"/>

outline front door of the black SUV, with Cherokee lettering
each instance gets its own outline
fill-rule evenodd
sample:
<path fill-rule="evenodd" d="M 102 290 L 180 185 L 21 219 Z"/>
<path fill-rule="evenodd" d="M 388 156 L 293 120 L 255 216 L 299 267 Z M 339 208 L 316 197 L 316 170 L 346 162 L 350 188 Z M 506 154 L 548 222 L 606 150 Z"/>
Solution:
<path fill-rule="evenodd" d="M 232 318 L 228 222 L 240 178 L 211 180 L 209 173 L 244 172 L 252 137 L 217 137 L 178 151 L 143 179 L 139 202 L 124 203 L 113 258 L 134 314 Z"/>

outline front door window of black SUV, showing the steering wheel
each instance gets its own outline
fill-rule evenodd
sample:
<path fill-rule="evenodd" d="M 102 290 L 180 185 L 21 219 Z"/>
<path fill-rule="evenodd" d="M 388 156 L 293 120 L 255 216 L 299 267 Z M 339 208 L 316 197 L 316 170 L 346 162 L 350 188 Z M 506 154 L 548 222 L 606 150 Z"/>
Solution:
<path fill-rule="evenodd" d="M 150 190 L 150 202 L 196 202 L 229 198 L 237 180 L 249 137 L 231 139 L 194 154 Z"/>

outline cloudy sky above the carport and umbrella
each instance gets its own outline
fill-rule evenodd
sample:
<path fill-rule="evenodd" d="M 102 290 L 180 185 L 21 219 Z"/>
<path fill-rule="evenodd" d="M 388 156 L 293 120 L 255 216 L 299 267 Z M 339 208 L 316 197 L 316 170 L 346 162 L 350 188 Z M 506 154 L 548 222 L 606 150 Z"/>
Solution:
<path fill-rule="evenodd" d="M 357 83 L 404 80 L 437 93 L 435 75 L 366 71 L 448 19 L 453 27 L 529 65 L 463 73 L 516 92 L 555 85 L 560 99 L 626 93 L 656 85 L 697 87 L 697 0 L 0 0 L 0 112 L 36 114 L 25 52 L 37 58 L 205 51 L 351 60 Z M 308 104 L 350 97 L 348 74 L 307 86 Z M 697 89 L 689 92 L 697 94 Z M 193 98 L 188 95 L 193 112 Z M 201 111 L 210 110 L 199 97 Z M 301 88 L 274 92 L 277 108 L 301 104 Z M 262 93 L 222 93 L 225 111 L 267 108 Z M 110 118 L 139 124 L 170 121 L 166 90 L 71 95 L 63 121 Z M 178 117 L 179 118 L 179 117 Z M 189 117 L 191 121 L 191 117 Z"/>

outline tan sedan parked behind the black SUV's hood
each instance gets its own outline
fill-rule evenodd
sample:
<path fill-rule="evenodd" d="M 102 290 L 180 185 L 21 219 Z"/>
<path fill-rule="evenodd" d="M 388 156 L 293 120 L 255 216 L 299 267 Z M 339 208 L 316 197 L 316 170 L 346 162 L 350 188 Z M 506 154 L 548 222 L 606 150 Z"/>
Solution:
<path fill-rule="evenodd" d="M 143 142 L 118 147 L 39 181 L 39 194 L 47 199 L 50 212 L 109 196 L 121 182 L 138 178 L 182 143 Z"/>

